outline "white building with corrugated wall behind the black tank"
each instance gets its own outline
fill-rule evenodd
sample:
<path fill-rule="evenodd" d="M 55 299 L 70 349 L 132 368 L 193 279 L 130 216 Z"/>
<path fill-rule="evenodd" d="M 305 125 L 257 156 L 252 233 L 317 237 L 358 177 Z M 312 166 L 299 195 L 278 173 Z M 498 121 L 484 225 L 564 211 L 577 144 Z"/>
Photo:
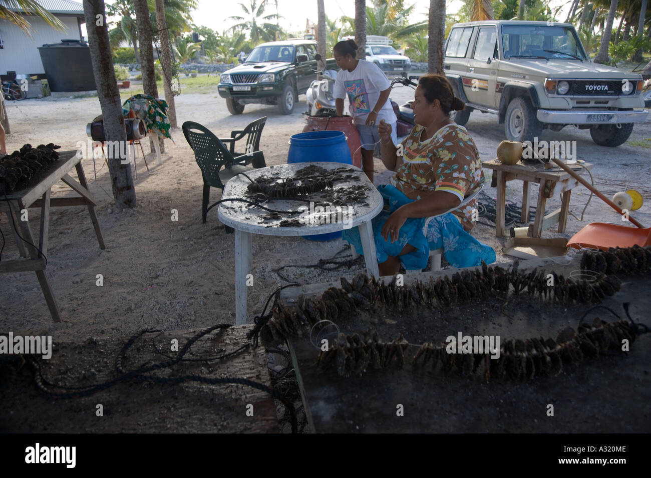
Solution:
<path fill-rule="evenodd" d="M 20 28 L 6 20 L 0 20 L 0 74 L 16 72 L 18 74 L 45 73 L 38 53 L 38 47 L 44 44 L 59 43 L 61 40 L 81 40 L 81 24 L 85 23 L 83 5 L 72 0 L 38 0 L 53 16 L 66 27 L 66 31 L 57 30 L 40 17 L 26 15 L 33 31 L 31 38 Z M 7 6 L 5 0 L 0 4 Z M 15 12 L 20 8 L 9 8 Z"/>

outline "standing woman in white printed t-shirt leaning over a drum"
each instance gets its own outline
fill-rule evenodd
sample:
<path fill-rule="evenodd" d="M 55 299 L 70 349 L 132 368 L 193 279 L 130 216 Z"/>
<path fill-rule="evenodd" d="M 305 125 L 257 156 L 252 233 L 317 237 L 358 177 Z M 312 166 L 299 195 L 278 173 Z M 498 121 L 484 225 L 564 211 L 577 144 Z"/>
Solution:
<path fill-rule="evenodd" d="M 355 40 L 339 42 L 333 48 L 333 56 L 340 70 L 335 81 L 337 115 L 344 113 L 344 98 L 348 95 L 350 115 L 353 116 L 362 143 L 362 168 L 373 181 L 373 151 L 380 142 L 378 124 L 385 120 L 392 126 L 391 139 L 397 144 L 396 118 L 389 100 L 391 83 L 380 67 L 367 60 L 355 58 Z"/>

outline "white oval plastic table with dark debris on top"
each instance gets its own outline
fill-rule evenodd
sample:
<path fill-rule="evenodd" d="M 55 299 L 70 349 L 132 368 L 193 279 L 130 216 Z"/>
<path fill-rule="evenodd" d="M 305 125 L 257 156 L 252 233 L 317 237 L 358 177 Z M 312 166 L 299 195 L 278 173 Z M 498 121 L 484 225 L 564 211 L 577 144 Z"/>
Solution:
<path fill-rule="evenodd" d="M 379 277 L 378 261 L 376 258 L 376 249 L 373 239 L 373 228 L 371 219 L 380 213 L 383 207 L 383 199 L 378 190 L 363 174 L 361 169 L 351 165 L 342 165 L 342 163 L 294 163 L 291 165 L 268 166 L 247 172 L 251 179 L 258 178 L 268 174 L 278 174 L 283 178 L 294 177 L 296 171 L 308 165 L 316 165 L 328 170 L 335 170 L 342 166 L 355 170 L 356 179 L 348 183 L 336 183 L 338 187 L 350 187 L 352 185 L 363 185 L 367 191 L 368 206 L 356 205 L 353 207 L 352 219 L 346 225 L 344 224 L 303 224 L 301 226 L 281 227 L 281 220 L 264 220 L 263 217 L 268 215 L 268 211 L 258 207 L 249 206 L 243 202 L 223 202 L 219 204 L 217 217 L 219 220 L 235 230 L 235 323 L 242 325 L 246 323 L 247 313 L 247 275 L 251 271 L 251 261 L 253 259 L 253 234 L 262 235 L 314 235 L 329 232 L 338 232 L 344 228 L 359 228 L 364 259 L 367 271 L 373 276 Z M 359 174 L 357 174 L 359 173 Z M 224 187 L 222 198 L 244 198 L 251 194 L 247 191 L 249 179 L 245 176 L 236 176 Z M 318 206 L 318 194 L 307 197 L 314 200 Z M 270 209 L 280 211 L 298 211 L 300 206 L 306 205 L 296 201 L 288 200 L 271 200 L 264 206 Z M 283 219 L 298 218 L 298 215 L 283 215 Z"/>

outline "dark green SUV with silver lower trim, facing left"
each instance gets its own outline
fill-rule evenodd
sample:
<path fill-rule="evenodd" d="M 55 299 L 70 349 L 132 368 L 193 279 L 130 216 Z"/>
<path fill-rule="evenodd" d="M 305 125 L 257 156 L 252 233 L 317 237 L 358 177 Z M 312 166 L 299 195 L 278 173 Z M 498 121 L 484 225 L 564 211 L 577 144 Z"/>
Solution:
<path fill-rule="evenodd" d="M 290 39 L 256 46 L 243 64 L 221 74 L 219 96 L 226 98 L 230 114 L 240 114 L 247 103 L 278 105 L 283 114 L 294 111 L 298 95 L 304 94 L 318 66 L 316 42 Z M 337 69 L 334 59 L 328 69 Z"/>

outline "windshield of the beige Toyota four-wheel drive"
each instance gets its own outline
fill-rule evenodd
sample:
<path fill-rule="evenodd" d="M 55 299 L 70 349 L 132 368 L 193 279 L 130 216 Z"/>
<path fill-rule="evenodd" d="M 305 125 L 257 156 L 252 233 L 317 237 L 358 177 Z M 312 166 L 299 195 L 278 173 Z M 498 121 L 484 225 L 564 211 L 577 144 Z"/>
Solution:
<path fill-rule="evenodd" d="M 571 27 L 503 25 L 502 43 L 505 58 L 587 59 Z"/>

